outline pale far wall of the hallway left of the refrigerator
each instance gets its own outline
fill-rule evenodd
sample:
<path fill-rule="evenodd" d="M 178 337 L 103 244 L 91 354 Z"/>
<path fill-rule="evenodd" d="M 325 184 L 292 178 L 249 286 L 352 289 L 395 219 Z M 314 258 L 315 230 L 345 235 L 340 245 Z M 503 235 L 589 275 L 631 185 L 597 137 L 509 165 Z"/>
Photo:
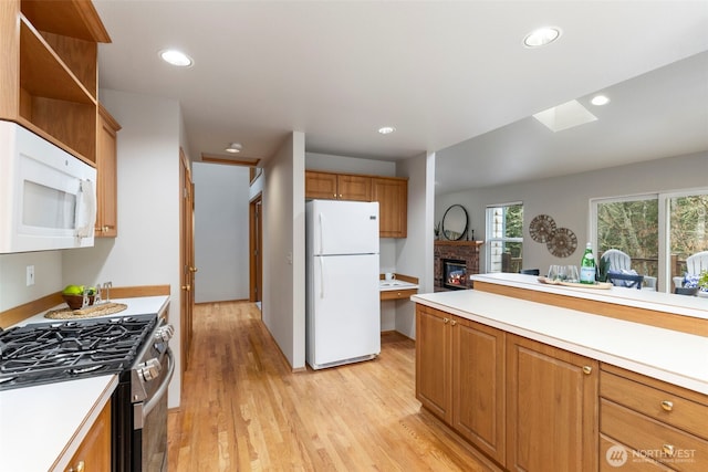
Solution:
<path fill-rule="evenodd" d="M 249 180 L 242 166 L 195 162 L 195 302 L 248 300 Z"/>

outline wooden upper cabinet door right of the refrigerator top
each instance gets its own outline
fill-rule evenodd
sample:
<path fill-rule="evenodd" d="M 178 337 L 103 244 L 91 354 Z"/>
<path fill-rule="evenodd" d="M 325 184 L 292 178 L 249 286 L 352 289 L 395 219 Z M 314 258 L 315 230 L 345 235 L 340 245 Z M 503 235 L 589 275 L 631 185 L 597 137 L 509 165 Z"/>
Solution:
<path fill-rule="evenodd" d="M 408 181 L 372 178 L 372 200 L 378 202 L 382 238 L 406 238 L 408 232 Z"/>

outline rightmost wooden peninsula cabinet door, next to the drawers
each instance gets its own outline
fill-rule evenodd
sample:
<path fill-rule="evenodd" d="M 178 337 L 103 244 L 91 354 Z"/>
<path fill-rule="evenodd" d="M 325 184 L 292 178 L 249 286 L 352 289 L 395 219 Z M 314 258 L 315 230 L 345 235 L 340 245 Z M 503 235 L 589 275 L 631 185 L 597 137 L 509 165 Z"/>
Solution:
<path fill-rule="evenodd" d="M 597 470 L 597 364 L 507 335 L 507 469 Z"/>

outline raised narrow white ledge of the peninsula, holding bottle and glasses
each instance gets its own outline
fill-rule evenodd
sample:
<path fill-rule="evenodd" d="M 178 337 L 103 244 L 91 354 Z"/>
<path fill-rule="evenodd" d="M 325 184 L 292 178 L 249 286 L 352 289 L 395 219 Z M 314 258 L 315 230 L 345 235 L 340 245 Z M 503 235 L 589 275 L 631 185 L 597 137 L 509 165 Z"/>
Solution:
<path fill-rule="evenodd" d="M 676 295 L 673 293 L 621 286 L 613 286 L 610 290 L 593 290 L 564 285 L 550 285 L 539 282 L 539 277 L 537 275 L 524 274 L 476 274 L 471 275 L 470 279 L 472 281 L 535 290 L 538 292 L 553 293 L 556 295 L 571 295 L 576 298 L 594 300 L 615 305 L 634 306 L 638 308 L 647 308 L 657 312 L 708 319 L 708 298 L 699 296 Z"/>

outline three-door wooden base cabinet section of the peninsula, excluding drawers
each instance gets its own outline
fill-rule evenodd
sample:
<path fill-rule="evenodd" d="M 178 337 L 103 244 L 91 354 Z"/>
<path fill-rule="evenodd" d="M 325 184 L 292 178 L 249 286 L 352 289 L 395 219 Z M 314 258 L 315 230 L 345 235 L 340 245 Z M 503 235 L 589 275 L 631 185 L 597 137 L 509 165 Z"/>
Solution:
<path fill-rule="evenodd" d="M 511 471 L 596 471 L 598 363 L 416 306 L 416 397 Z"/>

